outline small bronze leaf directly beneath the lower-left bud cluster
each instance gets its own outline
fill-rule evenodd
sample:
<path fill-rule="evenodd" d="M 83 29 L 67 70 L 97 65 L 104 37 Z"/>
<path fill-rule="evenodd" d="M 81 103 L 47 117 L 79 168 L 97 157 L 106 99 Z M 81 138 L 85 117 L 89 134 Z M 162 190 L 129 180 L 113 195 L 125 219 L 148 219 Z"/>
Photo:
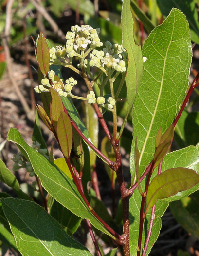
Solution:
<path fill-rule="evenodd" d="M 61 111 L 64 111 L 61 98 L 59 97 L 57 91 L 55 91 L 53 88 L 51 90 L 51 96 L 52 96 L 52 102 L 51 102 L 51 118 L 54 124 L 54 128 L 57 128 L 57 122 L 60 117 Z"/>

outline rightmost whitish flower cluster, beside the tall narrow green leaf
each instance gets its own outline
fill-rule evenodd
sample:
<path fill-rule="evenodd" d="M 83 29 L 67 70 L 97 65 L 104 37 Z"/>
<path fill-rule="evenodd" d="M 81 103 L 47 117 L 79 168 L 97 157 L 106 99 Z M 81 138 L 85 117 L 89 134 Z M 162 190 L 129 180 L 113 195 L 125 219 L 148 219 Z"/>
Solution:
<path fill-rule="evenodd" d="M 101 70 L 105 69 L 106 66 L 108 69 L 112 68 L 117 72 L 125 72 L 127 52 L 122 45 L 112 45 L 107 41 L 105 47 L 103 51 L 94 49 L 92 53 L 90 53 L 90 61 L 86 60 L 86 63 L 89 62 L 90 67 L 95 66 Z"/>

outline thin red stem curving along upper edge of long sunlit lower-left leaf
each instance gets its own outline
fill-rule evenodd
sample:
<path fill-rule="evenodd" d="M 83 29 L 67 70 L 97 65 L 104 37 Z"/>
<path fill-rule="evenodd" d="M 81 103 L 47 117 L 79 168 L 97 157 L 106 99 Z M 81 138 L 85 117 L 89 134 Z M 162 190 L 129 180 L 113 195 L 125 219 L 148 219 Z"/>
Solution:
<path fill-rule="evenodd" d="M 94 215 L 94 217 L 96 217 L 101 223 L 102 225 L 104 225 L 104 227 L 113 235 L 115 236 L 115 241 L 119 244 L 122 244 L 122 236 L 120 236 L 116 231 L 114 231 L 106 222 L 104 222 L 103 219 L 101 219 L 97 214 L 96 212 L 93 210 L 93 208 L 90 206 L 90 203 L 88 202 L 87 198 L 85 197 L 84 195 L 84 192 L 82 191 L 82 188 L 77 180 L 77 177 L 74 175 L 74 172 L 72 170 L 72 167 L 71 167 L 71 163 L 69 161 L 69 159 L 65 159 L 66 160 L 66 163 L 69 167 L 69 170 L 70 170 L 70 173 L 72 175 L 72 178 L 74 180 L 74 183 L 82 197 L 82 199 L 84 200 L 84 202 L 86 203 L 86 205 L 88 206 L 90 212 Z"/>

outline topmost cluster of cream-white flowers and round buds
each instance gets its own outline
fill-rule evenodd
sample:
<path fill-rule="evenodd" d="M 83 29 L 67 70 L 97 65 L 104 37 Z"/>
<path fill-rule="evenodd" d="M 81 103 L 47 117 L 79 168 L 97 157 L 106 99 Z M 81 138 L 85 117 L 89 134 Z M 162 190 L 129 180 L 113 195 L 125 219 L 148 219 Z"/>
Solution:
<path fill-rule="evenodd" d="M 94 29 L 89 25 L 72 26 L 71 31 L 66 34 L 67 57 L 79 56 L 80 51 L 84 51 L 88 45 L 91 49 L 102 46 L 103 44 L 98 36 L 99 33 L 99 28 Z"/>

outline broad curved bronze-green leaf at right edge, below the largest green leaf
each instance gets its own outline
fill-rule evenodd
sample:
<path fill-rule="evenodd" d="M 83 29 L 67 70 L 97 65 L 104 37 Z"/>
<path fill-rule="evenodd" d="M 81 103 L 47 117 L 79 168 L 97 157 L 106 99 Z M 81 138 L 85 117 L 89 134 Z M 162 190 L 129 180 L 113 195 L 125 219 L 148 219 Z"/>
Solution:
<path fill-rule="evenodd" d="M 178 192 L 192 188 L 199 182 L 199 175 L 188 168 L 168 169 L 154 177 L 148 187 L 147 209 L 153 207 L 158 199 L 171 197 Z"/>

